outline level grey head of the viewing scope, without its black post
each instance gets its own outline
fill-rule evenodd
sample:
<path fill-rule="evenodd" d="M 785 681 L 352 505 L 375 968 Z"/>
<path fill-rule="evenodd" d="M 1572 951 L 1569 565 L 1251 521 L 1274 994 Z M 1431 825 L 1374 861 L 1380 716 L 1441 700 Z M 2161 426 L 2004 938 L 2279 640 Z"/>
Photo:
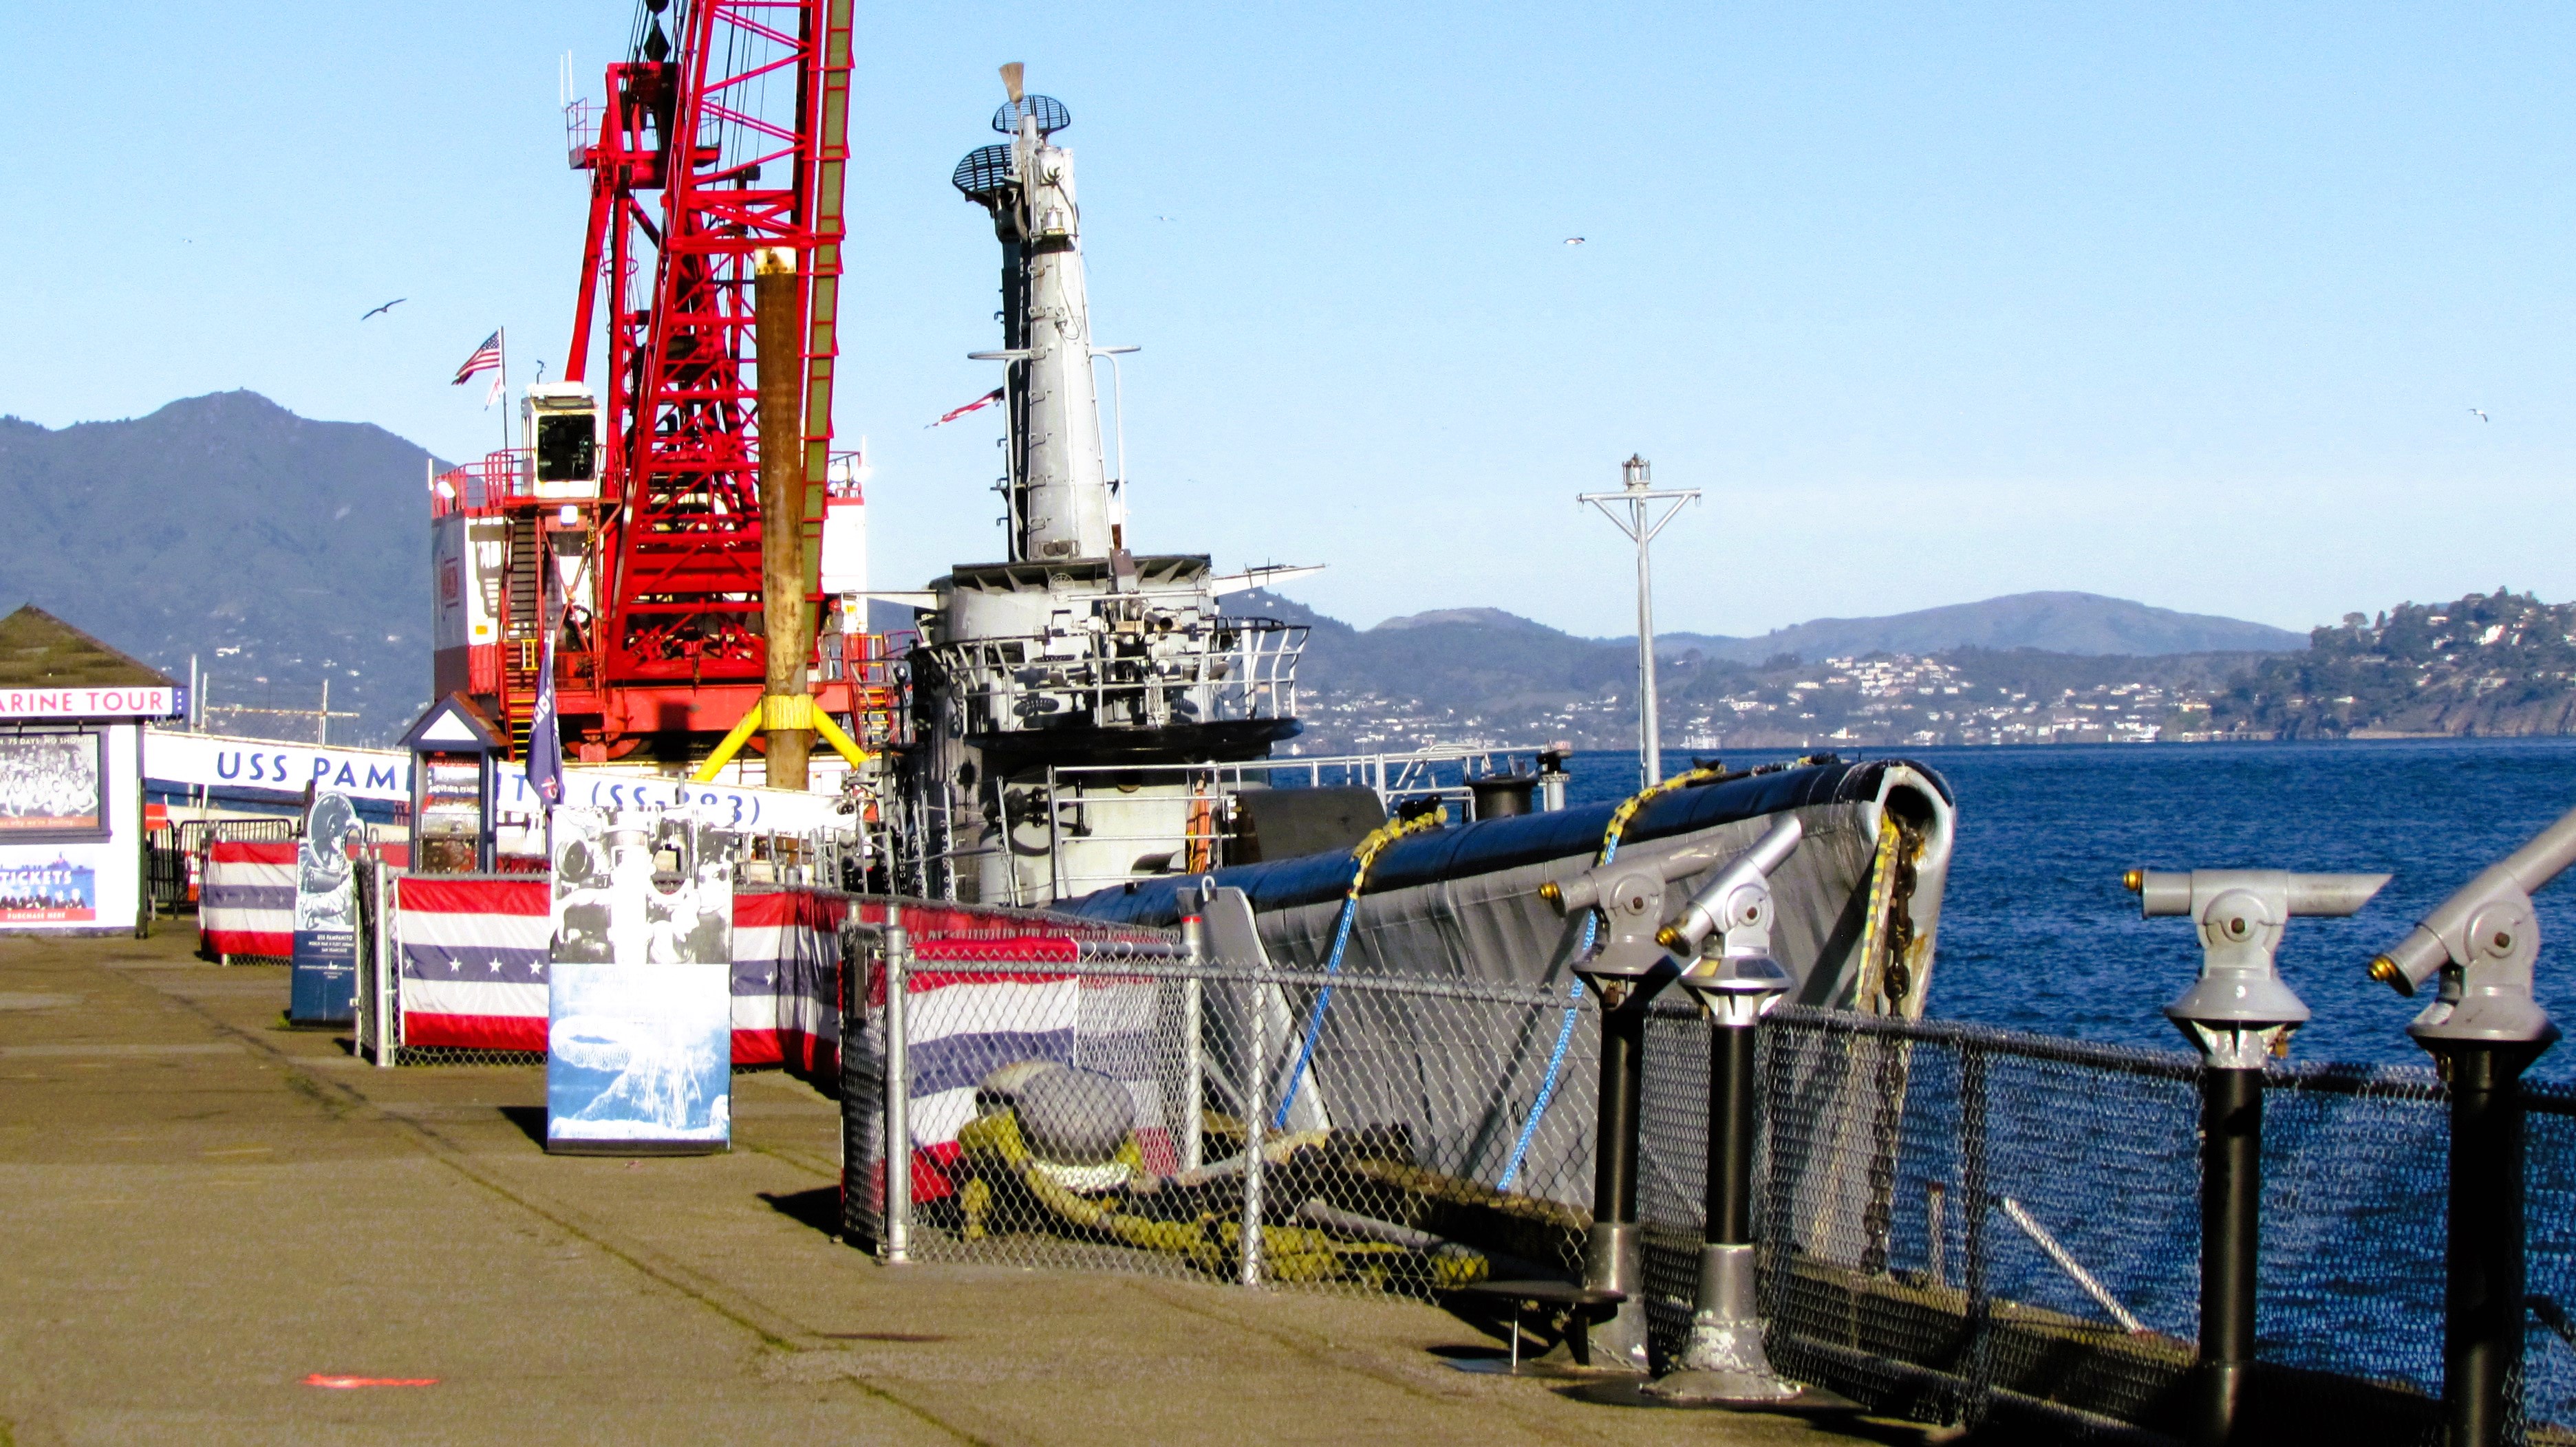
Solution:
<path fill-rule="evenodd" d="M 2138 914 L 2187 914 L 2200 927 L 2200 978 L 2164 1007 L 2221 1071 L 2259 1071 L 2290 1053 L 2308 1004 L 2272 966 L 2293 914 L 2347 917 L 2370 904 L 2388 875 L 2295 875 L 2290 870 L 2128 870 Z"/>

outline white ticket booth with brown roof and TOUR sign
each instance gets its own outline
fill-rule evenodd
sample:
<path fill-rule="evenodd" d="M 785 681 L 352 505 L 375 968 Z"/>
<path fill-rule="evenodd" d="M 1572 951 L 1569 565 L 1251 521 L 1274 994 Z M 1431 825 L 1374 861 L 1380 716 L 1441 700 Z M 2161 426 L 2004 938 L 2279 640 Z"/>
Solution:
<path fill-rule="evenodd" d="M 0 618 L 0 932 L 149 929 L 144 721 L 162 672 L 26 605 Z"/>

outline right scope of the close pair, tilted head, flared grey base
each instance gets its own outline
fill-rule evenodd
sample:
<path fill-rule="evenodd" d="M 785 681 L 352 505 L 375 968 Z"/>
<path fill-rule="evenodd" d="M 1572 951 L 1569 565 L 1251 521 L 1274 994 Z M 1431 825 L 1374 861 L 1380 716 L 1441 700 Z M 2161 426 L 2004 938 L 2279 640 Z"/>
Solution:
<path fill-rule="evenodd" d="M 1793 821 L 1790 821 L 1793 824 Z M 1646 1385 L 1669 1406 L 1783 1408 L 1814 1393 L 1783 1380 L 1762 1349 L 1754 1300 L 1754 1061 L 1757 1030 L 1798 981 L 1770 958 L 1772 896 L 1765 875 L 1798 847 L 1790 826 L 1765 837 L 1721 870 L 1662 935 L 1667 948 L 1700 945 L 1682 986 L 1708 1012 L 1708 1174 L 1700 1233 L 1700 1285 L 1690 1336 L 1672 1370 Z M 1839 1406 L 1839 1398 L 1832 1398 Z"/>

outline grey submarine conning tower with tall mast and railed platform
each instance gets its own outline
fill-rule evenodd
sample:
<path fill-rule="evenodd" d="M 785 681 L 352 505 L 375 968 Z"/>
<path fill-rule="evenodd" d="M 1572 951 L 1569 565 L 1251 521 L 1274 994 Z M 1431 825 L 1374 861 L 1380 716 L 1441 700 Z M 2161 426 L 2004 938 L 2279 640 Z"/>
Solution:
<path fill-rule="evenodd" d="M 1262 760 L 1298 731 L 1306 641 L 1221 610 L 1265 572 L 1128 551 L 1092 371 L 1110 350 L 1092 342 L 1074 154 L 1054 142 L 1072 113 L 1025 95 L 1018 70 L 1005 67 L 1010 103 L 992 118 L 1010 139 L 951 178 L 1002 242 L 1005 345 L 974 355 L 1005 363 L 1010 559 L 935 579 L 909 657 L 914 888 L 984 904 L 1206 863 L 1224 801 L 1193 765 Z"/>

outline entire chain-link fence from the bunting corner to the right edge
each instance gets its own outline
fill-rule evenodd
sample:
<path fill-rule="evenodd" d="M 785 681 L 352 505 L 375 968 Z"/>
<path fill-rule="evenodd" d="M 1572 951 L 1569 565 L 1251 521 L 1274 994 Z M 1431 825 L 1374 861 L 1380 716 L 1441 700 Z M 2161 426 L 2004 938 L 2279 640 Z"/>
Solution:
<path fill-rule="evenodd" d="M 1551 1069 L 1558 991 L 1244 968 L 1177 940 L 896 958 L 871 929 L 845 937 L 842 976 L 845 1231 L 878 1254 L 1401 1293 L 1471 1318 L 1479 1280 L 1582 1274 L 1600 1014 Z M 1643 1305 L 1669 1362 L 1700 1269 L 1710 1027 L 1656 1004 L 1643 1061 Z M 2200 1079 L 2184 1053 L 1772 1012 L 1754 1218 L 1775 1367 L 1893 1416 L 2182 1437 Z M 2262 1084 L 2259 1377 L 2264 1421 L 2295 1429 L 2249 1439 L 2437 1442 L 2445 1089 L 2344 1066 Z M 2576 1344 L 2548 1326 L 2576 1303 L 2576 1089 L 2527 1102 L 2517 1432 L 2576 1442 L 2558 1426 Z M 909 1169 L 886 1169 L 886 1141 Z"/>

